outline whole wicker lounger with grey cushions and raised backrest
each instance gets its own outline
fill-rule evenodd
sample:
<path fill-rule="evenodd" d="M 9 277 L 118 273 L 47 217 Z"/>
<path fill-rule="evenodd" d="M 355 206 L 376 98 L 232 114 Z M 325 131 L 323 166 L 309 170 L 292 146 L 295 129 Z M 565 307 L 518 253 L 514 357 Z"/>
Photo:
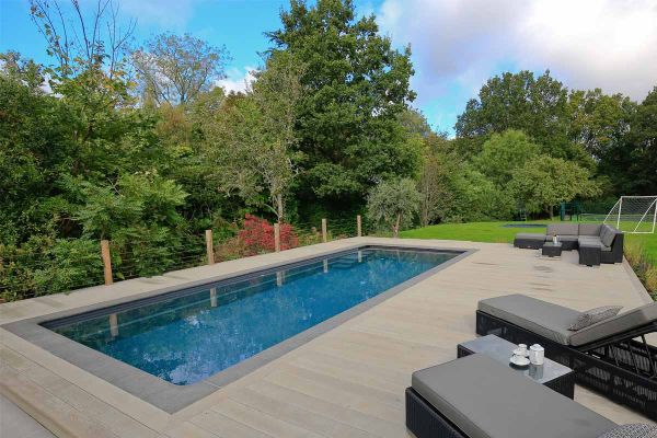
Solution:
<path fill-rule="evenodd" d="M 657 302 L 577 332 L 579 312 L 523 295 L 479 302 L 476 333 L 515 344 L 541 344 L 545 355 L 576 372 L 576 381 L 657 419 Z M 654 343 L 654 341 L 653 341 Z"/>

